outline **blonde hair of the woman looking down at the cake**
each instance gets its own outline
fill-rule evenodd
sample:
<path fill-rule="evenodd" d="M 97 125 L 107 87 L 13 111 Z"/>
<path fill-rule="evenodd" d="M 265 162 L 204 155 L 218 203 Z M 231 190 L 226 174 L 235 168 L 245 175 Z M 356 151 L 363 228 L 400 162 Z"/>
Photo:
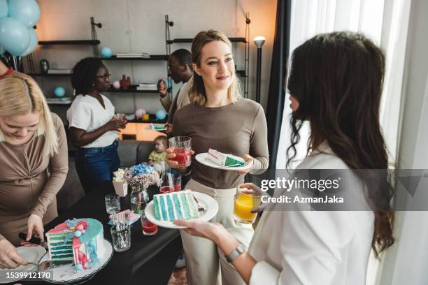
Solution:
<path fill-rule="evenodd" d="M 39 112 L 40 121 L 35 136 L 45 136 L 44 155 L 53 156 L 58 152 L 58 136 L 40 87 L 28 75 L 13 73 L 8 78 L 0 80 L 0 115 L 11 117 L 26 115 L 29 112 Z M 0 142 L 6 140 L 0 129 Z"/>

